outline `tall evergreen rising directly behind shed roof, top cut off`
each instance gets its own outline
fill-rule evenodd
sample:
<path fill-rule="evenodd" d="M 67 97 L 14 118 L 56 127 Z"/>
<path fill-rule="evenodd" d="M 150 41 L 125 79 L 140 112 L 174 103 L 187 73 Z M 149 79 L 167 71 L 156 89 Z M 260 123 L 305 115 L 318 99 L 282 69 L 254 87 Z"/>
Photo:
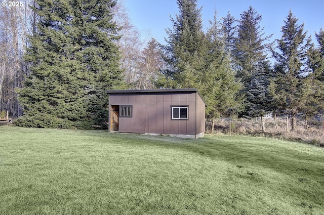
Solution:
<path fill-rule="evenodd" d="M 158 81 L 161 85 L 157 87 L 197 88 L 206 54 L 201 8 L 197 8 L 197 0 L 178 0 L 177 4 L 179 15 L 171 18 L 173 28 L 167 30 L 167 45 L 163 47 L 167 63 L 161 79 L 164 83 Z"/>

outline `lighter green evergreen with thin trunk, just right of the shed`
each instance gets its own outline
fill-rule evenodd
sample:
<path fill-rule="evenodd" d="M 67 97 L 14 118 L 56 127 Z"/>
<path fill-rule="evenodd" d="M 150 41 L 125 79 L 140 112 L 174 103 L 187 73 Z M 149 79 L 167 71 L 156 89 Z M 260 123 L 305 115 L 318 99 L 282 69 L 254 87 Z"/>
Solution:
<path fill-rule="evenodd" d="M 214 132 L 215 118 L 234 115 L 241 108 L 237 99 L 241 84 L 235 80 L 235 71 L 231 68 L 230 53 L 227 49 L 226 35 L 217 20 L 216 12 L 206 35 L 208 54 L 206 68 L 200 79 L 200 93 L 207 103 L 207 116 L 212 118 Z"/>

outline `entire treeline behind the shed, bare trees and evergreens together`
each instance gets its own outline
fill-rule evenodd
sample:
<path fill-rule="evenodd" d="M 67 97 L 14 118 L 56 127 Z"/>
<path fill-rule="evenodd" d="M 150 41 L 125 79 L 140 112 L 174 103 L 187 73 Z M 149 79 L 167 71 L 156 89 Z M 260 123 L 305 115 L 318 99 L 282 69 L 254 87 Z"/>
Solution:
<path fill-rule="evenodd" d="M 107 90 L 153 88 L 197 88 L 212 119 L 290 114 L 292 131 L 297 114 L 323 109 L 322 29 L 315 45 L 290 11 L 272 39 L 249 7 L 239 19 L 215 12 L 204 31 L 197 1 L 177 4 L 165 45 L 143 42 L 112 0 L 2 7 L 0 111 L 22 126 L 106 128 Z"/>

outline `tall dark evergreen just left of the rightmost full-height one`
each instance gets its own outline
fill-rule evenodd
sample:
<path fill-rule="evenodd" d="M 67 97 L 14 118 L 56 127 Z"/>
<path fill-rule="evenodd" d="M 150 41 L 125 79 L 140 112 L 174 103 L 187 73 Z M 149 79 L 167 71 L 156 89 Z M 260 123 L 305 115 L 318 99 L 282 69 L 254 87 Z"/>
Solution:
<path fill-rule="evenodd" d="M 257 92 L 263 94 L 261 89 L 267 89 L 267 85 L 254 86 L 260 91 L 251 89 L 252 85 L 256 84 L 256 82 L 252 83 L 252 80 L 256 81 L 260 79 L 258 74 L 260 71 L 263 71 L 266 78 L 268 78 L 271 73 L 266 55 L 266 49 L 270 46 L 270 44 L 266 43 L 266 40 L 270 38 L 271 35 L 263 37 L 264 28 L 260 28 L 261 19 L 262 16 L 251 6 L 247 11 L 241 14 L 241 18 L 238 20 L 237 36 L 234 40 L 233 49 L 234 63 L 237 68 L 236 77 L 240 78 L 244 84 L 244 89 L 241 90 L 241 94 L 246 97 L 246 108 L 241 112 L 241 115 L 252 117 L 256 116 L 257 110 L 251 111 L 251 108 L 254 109 L 257 107 L 261 108 L 259 116 L 264 116 L 263 110 L 266 109 L 265 104 L 263 104 L 263 106 L 255 97 L 258 97 L 258 95 L 256 95 Z M 262 66 L 263 68 L 261 68 Z M 267 81 L 258 82 L 258 84 L 266 83 Z M 262 95 L 259 96 L 262 97 Z"/>

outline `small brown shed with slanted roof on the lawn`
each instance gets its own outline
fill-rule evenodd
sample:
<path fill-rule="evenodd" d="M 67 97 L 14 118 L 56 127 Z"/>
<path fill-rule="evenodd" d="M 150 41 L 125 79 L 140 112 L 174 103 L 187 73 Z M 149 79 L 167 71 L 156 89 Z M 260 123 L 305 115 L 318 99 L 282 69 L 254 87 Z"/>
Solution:
<path fill-rule="evenodd" d="M 197 89 L 107 93 L 109 132 L 204 137 L 206 103 Z"/>

